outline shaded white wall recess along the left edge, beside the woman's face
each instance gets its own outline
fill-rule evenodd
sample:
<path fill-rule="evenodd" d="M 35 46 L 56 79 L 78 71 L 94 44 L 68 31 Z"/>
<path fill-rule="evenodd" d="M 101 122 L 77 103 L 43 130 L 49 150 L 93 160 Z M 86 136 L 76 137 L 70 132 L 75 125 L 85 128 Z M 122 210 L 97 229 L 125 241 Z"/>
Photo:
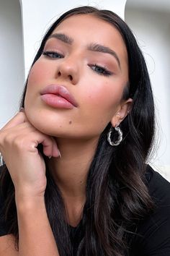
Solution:
<path fill-rule="evenodd" d="M 0 127 L 17 111 L 24 84 L 22 19 L 18 0 L 0 0 Z"/>

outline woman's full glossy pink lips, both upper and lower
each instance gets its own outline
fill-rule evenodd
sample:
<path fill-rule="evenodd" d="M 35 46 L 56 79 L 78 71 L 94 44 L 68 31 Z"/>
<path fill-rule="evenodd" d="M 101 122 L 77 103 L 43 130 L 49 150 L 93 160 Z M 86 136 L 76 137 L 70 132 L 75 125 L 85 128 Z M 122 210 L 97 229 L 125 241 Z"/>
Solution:
<path fill-rule="evenodd" d="M 47 85 L 40 91 L 40 95 L 42 101 L 54 108 L 73 108 L 78 106 L 73 95 L 63 85 Z"/>

